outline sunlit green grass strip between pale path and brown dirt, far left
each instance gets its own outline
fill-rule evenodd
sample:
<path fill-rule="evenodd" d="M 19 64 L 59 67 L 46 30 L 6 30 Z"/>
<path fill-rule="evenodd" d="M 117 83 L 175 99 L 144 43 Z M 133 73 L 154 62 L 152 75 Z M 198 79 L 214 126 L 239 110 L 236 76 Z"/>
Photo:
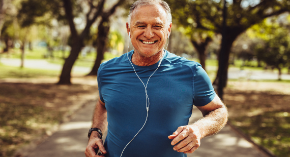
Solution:
<path fill-rule="evenodd" d="M 0 63 L 0 78 L 36 78 L 36 77 L 55 77 L 61 71 L 40 70 L 6 66 Z"/>

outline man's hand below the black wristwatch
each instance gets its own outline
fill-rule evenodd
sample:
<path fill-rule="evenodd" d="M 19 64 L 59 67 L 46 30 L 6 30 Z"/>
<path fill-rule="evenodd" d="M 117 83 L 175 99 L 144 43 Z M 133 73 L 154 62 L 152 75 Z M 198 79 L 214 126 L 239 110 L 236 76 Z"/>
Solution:
<path fill-rule="evenodd" d="M 97 154 L 99 149 L 101 150 L 102 154 Z M 91 135 L 88 146 L 86 146 L 84 153 L 86 157 L 97 157 L 104 156 L 107 151 L 103 145 L 103 140 L 100 139 L 98 136 Z"/>

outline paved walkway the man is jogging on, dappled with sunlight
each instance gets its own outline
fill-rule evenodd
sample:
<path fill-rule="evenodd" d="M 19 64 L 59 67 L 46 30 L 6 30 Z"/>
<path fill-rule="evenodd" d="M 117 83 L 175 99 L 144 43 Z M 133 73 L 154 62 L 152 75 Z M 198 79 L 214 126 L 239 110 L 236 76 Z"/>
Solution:
<path fill-rule="evenodd" d="M 68 123 L 62 124 L 60 130 L 52 134 L 45 142 L 38 145 L 27 157 L 79 157 L 85 156 L 84 150 L 88 142 L 88 131 L 95 102 L 81 108 Z M 190 124 L 202 114 L 194 107 Z M 106 133 L 103 140 L 105 140 Z M 251 143 L 237 135 L 229 126 L 218 134 L 201 140 L 200 147 L 188 157 L 267 157 L 259 152 Z"/>

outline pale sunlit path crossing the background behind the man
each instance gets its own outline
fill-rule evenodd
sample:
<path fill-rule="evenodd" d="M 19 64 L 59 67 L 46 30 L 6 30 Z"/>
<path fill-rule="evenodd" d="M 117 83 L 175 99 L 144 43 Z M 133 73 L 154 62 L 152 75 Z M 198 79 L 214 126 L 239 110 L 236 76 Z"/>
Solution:
<path fill-rule="evenodd" d="M 20 66 L 20 59 L 14 58 L 0 58 L 0 62 L 9 66 Z M 63 66 L 60 64 L 49 63 L 44 59 L 25 59 L 24 67 L 34 69 L 46 69 L 46 70 L 62 70 Z M 207 66 L 208 70 L 217 70 L 216 66 Z M 89 73 L 91 67 L 73 66 L 72 71 L 76 73 Z M 237 67 L 230 67 L 228 70 L 229 79 L 245 79 L 245 80 L 277 80 L 278 74 L 272 71 L 260 71 L 260 70 L 240 70 Z M 290 74 L 282 74 L 282 80 L 290 80 Z"/>

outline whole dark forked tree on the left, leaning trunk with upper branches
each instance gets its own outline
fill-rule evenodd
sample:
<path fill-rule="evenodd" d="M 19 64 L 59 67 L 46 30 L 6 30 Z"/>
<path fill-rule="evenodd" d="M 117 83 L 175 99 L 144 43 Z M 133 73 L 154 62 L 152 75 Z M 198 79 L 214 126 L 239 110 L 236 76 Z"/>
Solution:
<path fill-rule="evenodd" d="M 112 8 L 115 8 L 115 6 L 118 6 L 123 1 L 120 0 Z M 38 17 L 56 18 L 69 25 L 71 32 L 71 52 L 65 60 L 60 80 L 57 84 L 71 84 L 70 78 L 73 64 L 81 48 L 84 46 L 85 38 L 89 36 L 91 26 L 104 13 L 105 0 L 88 0 L 86 3 L 77 0 L 27 0 L 23 1 L 21 5 L 19 16 L 22 17 L 21 24 L 23 26 L 34 24 Z M 85 12 L 86 10 L 88 11 Z M 78 15 L 85 16 L 85 27 L 83 29 L 77 29 L 74 22 L 75 17 Z"/>

